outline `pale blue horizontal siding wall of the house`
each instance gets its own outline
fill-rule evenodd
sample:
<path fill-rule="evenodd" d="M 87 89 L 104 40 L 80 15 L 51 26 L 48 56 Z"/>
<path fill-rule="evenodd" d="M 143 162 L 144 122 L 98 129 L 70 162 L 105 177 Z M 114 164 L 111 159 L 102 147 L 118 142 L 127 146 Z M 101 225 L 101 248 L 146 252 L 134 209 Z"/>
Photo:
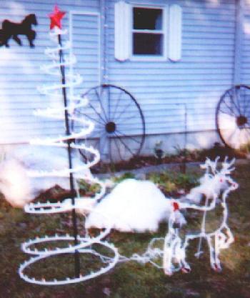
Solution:
<path fill-rule="evenodd" d="M 73 17 L 73 51 L 78 59 L 74 70 L 84 76 L 77 91 L 86 91 L 99 84 L 102 69 L 98 56 L 105 54 L 106 78 L 104 81 L 121 86 L 134 95 L 141 106 L 146 122 L 147 141 L 144 153 L 149 152 L 154 142 L 163 140 L 169 149 L 174 144 L 184 144 L 185 113 L 190 146 L 209 146 L 216 139 L 215 109 L 219 97 L 234 81 L 234 53 L 236 30 L 236 0 L 135 0 L 136 4 L 179 4 L 183 11 L 182 57 L 178 62 L 124 61 L 114 58 L 114 0 L 106 0 L 107 31 L 104 44 L 99 40 L 103 28 L 104 12 L 99 0 L 64 0 L 60 9 L 67 11 L 64 28 L 69 28 L 69 11 L 100 13 L 98 21 L 86 15 Z M 249 74 L 249 13 L 250 1 L 244 22 L 244 54 L 241 65 L 242 78 L 248 82 Z M 129 1 L 128 1 L 129 2 Z M 49 136 L 63 133 L 61 121 L 40 119 L 33 115 L 34 109 L 42 109 L 59 102 L 42 96 L 36 90 L 40 84 L 50 84 L 56 79 L 39 69 L 50 63 L 44 49 L 52 46 L 49 40 L 49 18 L 54 4 L 51 0 L 3 1 L 0 7 L 2 19 L 21 21 L 27 14 L 35 13 L 39 25 L 36 47 L 30 49 L 24 37 L 24 46 L 10 41 L 10 48 L 0 48 L 0 144 L 29 141 L 34 136 Z M 96 15 L 97 16 L 97 15 Z M 91 27 L 91 24 L 93 26 Z M 92 47 L 84 49 L 86 42 Z M 101 43 L 101 53 L 96 47 Z M 106 45 L 106 47 L 104 47 Z M 94 59 L 94 60 L 93 60 Z M 91 64 L 94 61 L 94 64 Z M 92 66 L 93 67 L 92 67 Z M 247 83 L 248 84 L 248 83 Z M 129 116 L 129 114 L 128 114 Z M 134 120 L 136 125 L 136 118 Z M 133 131 L 131 131 L 133 133 Z M 173 135 L 172 135 L 173 134 Z M 174 136 L 171 138 L 171 136 Z M 174 141 L 176 139 L 176 141 Z M 182 146 L 182 145 L 181 145 Z"/>

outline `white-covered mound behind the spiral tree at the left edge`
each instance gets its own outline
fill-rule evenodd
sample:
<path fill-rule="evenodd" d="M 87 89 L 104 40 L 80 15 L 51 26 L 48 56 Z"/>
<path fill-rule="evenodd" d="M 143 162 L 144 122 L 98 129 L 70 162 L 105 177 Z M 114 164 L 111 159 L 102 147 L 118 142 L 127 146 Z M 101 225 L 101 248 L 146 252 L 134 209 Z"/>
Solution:
<path fill-rule="evenodd" d="M 81 166 L 82 161 L 73 154 L 74 167 Z M 56 184 L 69 189 L 69 177 L 29 177 L 29 171 L 67 169 L 69 167 L 67 151 L 64 148 L 46 146 L 20 146 L 6 152 L 0 164 L 0 192 L 14 207 L 24 207 L 41 192 Z M 76 173 L 76 178 L 91 175 L 89 169 Z"/>

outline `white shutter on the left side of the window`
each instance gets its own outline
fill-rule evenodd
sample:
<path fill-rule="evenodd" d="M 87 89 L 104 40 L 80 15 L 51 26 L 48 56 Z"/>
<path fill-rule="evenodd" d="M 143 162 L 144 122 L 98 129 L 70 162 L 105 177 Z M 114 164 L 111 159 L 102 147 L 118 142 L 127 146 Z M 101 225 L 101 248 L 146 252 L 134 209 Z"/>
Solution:
<path fill-rule="evenodd" d="M 129 59 L 131 9 L 129 4 L 114 4 L 114 56 L 119 61 Z"/>

